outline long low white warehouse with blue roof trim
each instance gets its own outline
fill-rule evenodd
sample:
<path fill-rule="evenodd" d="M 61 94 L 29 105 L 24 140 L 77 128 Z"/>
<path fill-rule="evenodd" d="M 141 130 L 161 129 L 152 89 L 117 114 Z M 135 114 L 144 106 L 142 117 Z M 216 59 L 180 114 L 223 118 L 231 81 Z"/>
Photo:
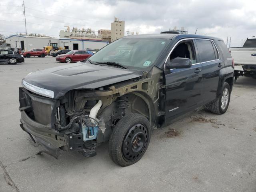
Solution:
<path fill-rule="evenodd" d="M 6 38 L 6 43 L 11 44 L 11 48 L 22 48 L 30 50 L 34 48 L 43 48 L 50 43 L 58 43 L 58 47 L 65 47 L 70 50 L 101 49 L 108 44 L 105 41 L 86 40 L 86 39 L 66 39 L 50 37 L 33 37 L 13 35 Z"/>

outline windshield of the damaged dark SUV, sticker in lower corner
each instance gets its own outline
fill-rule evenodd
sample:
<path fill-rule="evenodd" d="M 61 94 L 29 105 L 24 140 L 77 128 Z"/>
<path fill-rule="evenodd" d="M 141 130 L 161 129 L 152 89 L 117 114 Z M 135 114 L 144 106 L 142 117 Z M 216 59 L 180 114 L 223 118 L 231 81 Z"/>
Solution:
<path fill-rule="evenodd" d="M 92 62 L 116 62 L 127 68 L 147 68 L 169 44 L 169 39 L 129 38 L 119 39 L 90 57 Z"/>

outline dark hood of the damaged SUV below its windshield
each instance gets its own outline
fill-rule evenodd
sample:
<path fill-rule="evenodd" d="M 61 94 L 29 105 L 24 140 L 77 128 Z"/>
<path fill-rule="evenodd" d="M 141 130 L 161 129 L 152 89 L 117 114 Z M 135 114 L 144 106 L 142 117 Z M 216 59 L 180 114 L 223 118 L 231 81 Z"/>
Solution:
<path fill-rule="evenodd" d="M 51 90 L 59 98 L 73 89 L 94 89 L 142 76 L 142 71 L 77 62 L 28 74 L 29 84 Z"/>

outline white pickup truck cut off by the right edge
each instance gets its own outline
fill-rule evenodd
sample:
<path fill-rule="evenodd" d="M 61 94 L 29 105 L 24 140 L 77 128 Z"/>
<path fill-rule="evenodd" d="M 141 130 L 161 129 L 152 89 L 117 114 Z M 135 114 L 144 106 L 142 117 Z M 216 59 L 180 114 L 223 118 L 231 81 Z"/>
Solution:
<path fill-rule="evenodd" d="M 234 78 L 238 76 L 251 76 L 256 78 L 256 38 L 247 38 L 242 47 L 231 47 L 229 49 L 234 58 Z"/>

